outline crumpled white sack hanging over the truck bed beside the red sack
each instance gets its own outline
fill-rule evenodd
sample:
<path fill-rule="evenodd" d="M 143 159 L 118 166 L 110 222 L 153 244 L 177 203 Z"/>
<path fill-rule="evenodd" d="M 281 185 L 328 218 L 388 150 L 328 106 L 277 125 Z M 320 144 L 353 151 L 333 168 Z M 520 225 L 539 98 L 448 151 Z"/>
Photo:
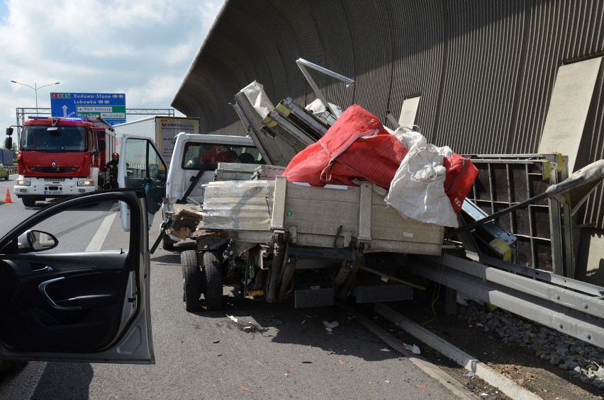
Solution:
<path fill-rule="evenodd" d="M 394 174 L 390 191 L 384 199 L 401 215 L 420 222 L 457 227 L 457 215 L 444 193 L 445 156 L 452 156 L 449 147 L 427 143 L 419 132 L 394 132 L 409 150 Z"/>

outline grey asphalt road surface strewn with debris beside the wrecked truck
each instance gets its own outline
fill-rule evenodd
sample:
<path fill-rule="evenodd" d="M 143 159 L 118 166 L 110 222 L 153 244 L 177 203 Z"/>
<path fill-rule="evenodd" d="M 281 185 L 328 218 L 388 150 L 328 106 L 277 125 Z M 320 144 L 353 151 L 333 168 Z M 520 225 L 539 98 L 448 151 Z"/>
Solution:
<path fill-rule="evenodd" d="M 2 235 L 36 211 L 25 209 L 18 199 L 13 204 L 1 202 L 12 185 L 0 182 Z M 119 217 L 113 224 L 114 228 L 120 224 Z M 159 224 L 155 219 L 151 242 Z M 179 261 L 184 248 L 159 248 L 152 255 L 155 365 L 30 362 L 21 372 L 4 376 L 0 399 L 454 397 L 337 307 L 295 309 L 293 302 L 235 301 L 230 296 L 225 312 L 186 312 Z M 323 321 L 340 325 L 328 332 Z"/>

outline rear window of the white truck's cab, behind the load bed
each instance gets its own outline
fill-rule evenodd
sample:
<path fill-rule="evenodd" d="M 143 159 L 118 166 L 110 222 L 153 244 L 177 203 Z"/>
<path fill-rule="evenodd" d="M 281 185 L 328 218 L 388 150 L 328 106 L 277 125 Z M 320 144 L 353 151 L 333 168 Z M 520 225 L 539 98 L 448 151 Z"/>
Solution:
<path fill-rule="evenodd" d="M 215 170 L 218 163 L 264 164 L 262 155 L 255 146 L 187 143 L 182 168 L 198 170 L 204 162 L 208 163 L 210 170 Z"/>

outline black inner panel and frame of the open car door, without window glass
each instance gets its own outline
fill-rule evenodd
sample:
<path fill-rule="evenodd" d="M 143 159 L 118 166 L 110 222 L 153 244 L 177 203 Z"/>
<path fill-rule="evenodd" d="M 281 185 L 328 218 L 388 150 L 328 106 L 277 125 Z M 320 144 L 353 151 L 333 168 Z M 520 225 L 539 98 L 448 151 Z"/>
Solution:
<path fill-rule="evenodd" d="M 124 193 L 96 196 L 130 207 L 136 223 L 127 250 L 15 254 L 4 251 L 10 232 L 0 241 L 0 358 L 154 361 L 144 193 Z"/>

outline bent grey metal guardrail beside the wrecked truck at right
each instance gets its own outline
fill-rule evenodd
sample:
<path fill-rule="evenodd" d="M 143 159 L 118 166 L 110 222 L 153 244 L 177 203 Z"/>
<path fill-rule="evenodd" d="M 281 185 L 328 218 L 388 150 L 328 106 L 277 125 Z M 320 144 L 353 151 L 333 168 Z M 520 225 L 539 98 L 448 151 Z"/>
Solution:
<path fill-rule="evenodd" d="M 447 254 L 413 256 L 403 268 L 604 348 L 604 287 L 472 253 L 466 256 L 479 262 Z"/>

